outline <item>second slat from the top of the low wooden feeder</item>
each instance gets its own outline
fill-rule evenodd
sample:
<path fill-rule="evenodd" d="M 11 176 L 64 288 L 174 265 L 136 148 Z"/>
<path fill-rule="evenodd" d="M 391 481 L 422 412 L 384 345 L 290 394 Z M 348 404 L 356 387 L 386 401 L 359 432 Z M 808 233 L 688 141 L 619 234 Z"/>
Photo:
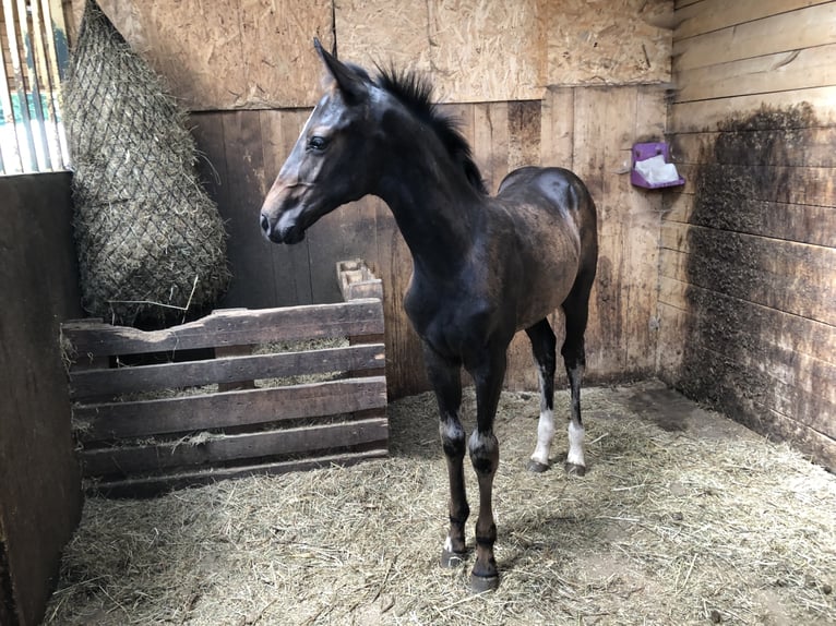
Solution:
<path fill-rule="evenodd" d="M 284 378 L 325 372 L 366 371 L 385 362 L 382 344 L 330 348 L 303 352 L 227 357 L 206 361 L 160 363 L 116 370 L 81 370 L 70 373 L 73 399 L 118 396 L 138 392 Z"/>

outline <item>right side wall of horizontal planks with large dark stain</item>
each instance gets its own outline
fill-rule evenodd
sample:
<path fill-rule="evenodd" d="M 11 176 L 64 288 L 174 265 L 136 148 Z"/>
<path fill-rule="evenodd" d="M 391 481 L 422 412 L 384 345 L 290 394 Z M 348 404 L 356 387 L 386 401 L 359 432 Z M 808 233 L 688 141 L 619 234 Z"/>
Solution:
<path fill-rule="evenodd" d="M 836 2 L 674 19 L 659 373 L 836 468 Z"/>

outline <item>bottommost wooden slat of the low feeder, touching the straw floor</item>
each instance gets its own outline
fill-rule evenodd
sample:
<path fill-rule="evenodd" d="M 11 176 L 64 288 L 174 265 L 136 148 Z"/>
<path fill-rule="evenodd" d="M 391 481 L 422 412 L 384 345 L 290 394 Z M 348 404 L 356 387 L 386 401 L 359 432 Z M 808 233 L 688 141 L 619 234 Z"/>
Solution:
<path fill-rule="evenodd" d="M 148 497 L 175 489 L 210 484 L 220 480 L 239 479 L 252 475 L 274 475 L 291 471 L 306 471 L 332 466 L 348 467 L 358 462 L 385 457 L 385 448 L 357 453 L 314 456 L 287 461 L 250 464 L 231 468 L 208 468 L 198 471 L 172 472 L 166 475 L 135 477 L 121 480 L 86 481 L 88 494 L 109 497 Z"/>

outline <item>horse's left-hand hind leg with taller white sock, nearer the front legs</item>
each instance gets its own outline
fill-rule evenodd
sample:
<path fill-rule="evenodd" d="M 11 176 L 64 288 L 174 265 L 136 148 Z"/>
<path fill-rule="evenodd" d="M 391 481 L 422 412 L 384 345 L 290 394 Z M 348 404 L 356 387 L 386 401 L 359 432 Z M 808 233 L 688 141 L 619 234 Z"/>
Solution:
<path fill-rule="evenodd" d="M 534 449 L 528 470 L 544 472 L 549 469 L 549 452 L 554 438 L 554 349 L 558 340 L 546 318 L 526 328 L 532 340 L 532 351 L 537 361 L 540 377 L 540 419 L 537 423 L 537 447 Z"/>

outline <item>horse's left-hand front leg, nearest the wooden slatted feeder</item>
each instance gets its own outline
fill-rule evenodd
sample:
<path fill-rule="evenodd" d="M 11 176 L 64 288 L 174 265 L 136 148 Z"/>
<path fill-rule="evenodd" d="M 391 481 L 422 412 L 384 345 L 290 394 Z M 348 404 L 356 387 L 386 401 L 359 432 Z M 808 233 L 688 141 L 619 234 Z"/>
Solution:
<path fill-rule="evenodd" d="M 423 352 L 427 373 L 439 402 L 439 432 L 450 481 L 450 530 L 441 552 L 441 565 L 455 567 L 464 559 L 465 523 L 470 516 L 463 467 L 465 431 L 458 418 L 462 405 L 462 368 L 458 363 L 442 358 L 428 345 L 425 345 Z"/>

